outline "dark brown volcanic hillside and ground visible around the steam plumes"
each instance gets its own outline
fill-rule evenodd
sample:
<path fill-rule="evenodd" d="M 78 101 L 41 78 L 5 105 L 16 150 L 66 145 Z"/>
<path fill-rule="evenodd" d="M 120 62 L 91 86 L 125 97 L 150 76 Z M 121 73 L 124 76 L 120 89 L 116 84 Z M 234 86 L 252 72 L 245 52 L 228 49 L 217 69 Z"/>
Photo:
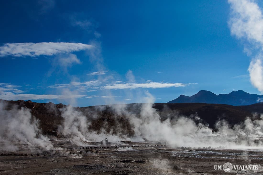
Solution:
<path fill-rule="evenodd" d="M 74 134 L 72 134 L 73 132 L 65 133 L 61 129 L 62 126 L 72 129 L 70 125 L 65 124 L 65 120 L 70 119 L 64 114 L 65 110 L 63 109 L 68 107 L 66 105 L 23 100 L 1 100 L 1 103 L 5 104 L 2 105 L 2 111 L 29 111 L 32 115 L 30 120 L 37 123 L 36 130 L 39 131 L 33 137 L 39 137 L 42 140 L 44 140 L 42 137 L 48 138 L 45 143 L 48 142 L 48 145 L 51 145 L 47 148 L 48 146 L 36 142 L 29 146 L 30 139 L 25 142 L 24 137 L 21 136 L 10 140 L 10 135 L 1 130 L 1 174 L 224 174 L 223 170 L 215 170 L 214 166 L 223 165 L 225 162 L 259 166 L 258 170 L 239 171 L 233 169 L 229 174 L 261 174 L 263 172 L 261 169 L 263 166 L 261 136 L 246 141 L 244 144 L 246 147 L 238 147 L 243 144 L 242 141 L 248 135 L 227 138 L 225 142 L 220 141 L 223 137 L 219 135 L 202 135 L 200 138 L 205 139 L 200 143 L 204 144 L 202 147 L 198 147 L 199 142 L 192 142 L 196 138 L 195 135 L 192 135 L 187 142 L 181 142 L 177 137 L 171 137 L 174 140 L 169 140 L 167 138 L 170 137 L 165 138 L 165 134 L 160 135 L 164 137 L 163 139 L 157 137 L 153 140 L 152 138 L 162 131 L 158 130 L 158 126 L 156 128 L 151 126 L 150 129 L 153 129 L 152 133 L 149 131 L 151 135 L 144 135 L 145 130 L 140 131 L 140 136 L 143 139 L 136 140 L 135 136 L 138 135 L 140 128 L 136 129 L 135 124 L 131 121 L 136 117 L 148 115 L 142 112 L 147 104 L 125 104 L 125 112 L 122 111 L 122 105 L 71 107 L 74 112 L 70 113 L 70 117 L 81 114 L 89 123 L 86 128 L 89 133 L 86 134 L 86 137 L 90 135 L 90 140 L 84 140 L 81 137 L 84 137 L 84 133 L 79 135 L 75 132 Z M 174 120 L 180 121 L 181 118 L 176 119 L 176 116 L 183 116 L 183 119 L 193 121 L 193 125 L 198 126 L 197 132 L 200 123 L 202 123 L 202 128 L 218 132 L 220 129 L 216 123 L 219 120 L 228 121 L 227 126 L 230 128 L 241 126 L 240 123 L 248 118 L 251 118 L 252 121 L 261 121 L 260 113 L 263 112 L 263 104 L 248 106 L 205 103 L 150 104 L 149 110 L 154 111 L 149 115 L 159 117 L 157 118 L 162 127 L 163 123 L 167 121 L 171 123 Z M 128 115 L 136 117 L 131 119 Z M 36 121 L 33 120 L 34 117 Z M 12 119 L 15 120 L 16 117 Z M 74 118 L 72 123 L 76 120 L 78 119 Z M 8 121 L 3 121 L 2 125 L 4 126 L 4 124 L 8 124 Z M 147 128 L 144 123 L 141 125 Z M 16 128 L 12 129 L 16 130 Z M 191 128 L 186 126 L 184 130 L 191 130 Z M 169 132 L 164 133 L 169 135 Z M 98 137 L 91 137 L 92 134 Z M 103 136 L 110 137 L 101 139 Z M 184 140 L 188 137 L 183 134 L 180 138 Z M 200 138 L 198 137 L 199 140 Z M 213 146 L 209 139 L 218 140 L 221 145 L 216 145 L 217 142 L 216 146 Z M 228 145 L 228 142 L 233 142 L 235 145 Z M 196 147 L 194 147 L 194 143 L 198 143 Z M 16 148 L 11 149 L 11 147 Z"/>

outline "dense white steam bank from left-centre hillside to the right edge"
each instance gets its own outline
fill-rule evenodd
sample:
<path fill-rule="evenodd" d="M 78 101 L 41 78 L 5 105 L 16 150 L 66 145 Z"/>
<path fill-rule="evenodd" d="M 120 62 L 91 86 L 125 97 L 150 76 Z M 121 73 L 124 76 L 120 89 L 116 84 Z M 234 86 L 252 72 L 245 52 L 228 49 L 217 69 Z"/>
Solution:
<path fill-rule="evenodd" d="M 105 106 L 97 106 L 97 111 L 85 111 L 85 115 L 71 106 L 62 109 L 63 124 L 59 133 L 76 144 L 83 144 L 79 141 L 100 141 L 108 138 L 109 141 L 118 142 L 120 140 L 131 141 L 165 141 L 173 147 L 226 147 L 231 149 L 262 148 L 262 141 L 258 140 L 263 136 L 263 115 L 258 120 L 247 118 L 241 124 L 233 127 L 225 120 L 218 120 L 215 123 L 217 131 L 213 131 L 208 125 L 204 125 L 197 115 L 180 116 L 178 112 L 164 109 L 167 119 L 162 121 L 161 115 L 153 108 L 154 97 L 146 92 L 145 103 L 129 105 L 110 105 L 117 125 L 107 131 L 109 123 L 104 120 L 100 131 L 91 129 L 92 123 L 86 116 L 99 117 L 103 113 Z M 256 115 L 256 114 L 255 114 Z M 123 132 L 121 123 L 117 117 L 128 118 L 134 134 L 128 136 Z M 255 116 L 256 117 L 256 116 Z M 255 140 L 258 140 L 255 142 Z"/>

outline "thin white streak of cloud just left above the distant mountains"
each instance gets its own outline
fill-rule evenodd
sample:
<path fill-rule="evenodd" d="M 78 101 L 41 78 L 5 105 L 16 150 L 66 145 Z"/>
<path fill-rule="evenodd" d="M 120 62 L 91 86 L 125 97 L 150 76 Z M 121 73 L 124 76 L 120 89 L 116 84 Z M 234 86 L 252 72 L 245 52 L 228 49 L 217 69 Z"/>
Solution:
<path fill-rule="evenodd" d="M 135 88 L 171 88 L 171 87 L 183 87 L 189 84 L 183 83 L 157 83 L 157 82 L 148 82 L 148 83 L 115 83 L 115 84 L 107 84 L 106 86 L 102 87 L 103 89 L 135 89 Z M 196 83 L 195 83 L 196 84 Z"/>

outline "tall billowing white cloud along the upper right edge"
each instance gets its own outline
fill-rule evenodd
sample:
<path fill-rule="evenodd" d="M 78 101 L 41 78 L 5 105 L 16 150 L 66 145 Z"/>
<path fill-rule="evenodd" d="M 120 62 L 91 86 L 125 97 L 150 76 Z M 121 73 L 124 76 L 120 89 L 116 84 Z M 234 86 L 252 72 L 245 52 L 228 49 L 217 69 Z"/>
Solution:
<path fill-rule="evenodd" d="M 249 65 L 250 81 L 259 91 L 263 92 L 263 69 L 262 69 L 262 48 L 263 48 L 263 16 L 255 1 L 250 0 L 229 0 L 231 6 L 231 18 L 229 25 L 231 34 L 239 39 L 247 40 L 252 49 L 256 50 L 256 57 Z M 245 52 L 252 54 L 245 46 Z"/>

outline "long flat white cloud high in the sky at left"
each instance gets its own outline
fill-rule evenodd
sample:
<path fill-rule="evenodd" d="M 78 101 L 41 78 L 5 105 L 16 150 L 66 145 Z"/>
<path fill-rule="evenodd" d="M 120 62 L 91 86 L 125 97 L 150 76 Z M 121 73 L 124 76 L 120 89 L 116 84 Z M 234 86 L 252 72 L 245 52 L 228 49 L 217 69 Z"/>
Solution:
<path fill-rule="evenodd" d="M 6 43 L 0 47 L 0 57 L 12 56 L 30 56 L 55 55 L 71 53 L 80 50 L 92 48 L 92 45 L 83 43 Z"/>

